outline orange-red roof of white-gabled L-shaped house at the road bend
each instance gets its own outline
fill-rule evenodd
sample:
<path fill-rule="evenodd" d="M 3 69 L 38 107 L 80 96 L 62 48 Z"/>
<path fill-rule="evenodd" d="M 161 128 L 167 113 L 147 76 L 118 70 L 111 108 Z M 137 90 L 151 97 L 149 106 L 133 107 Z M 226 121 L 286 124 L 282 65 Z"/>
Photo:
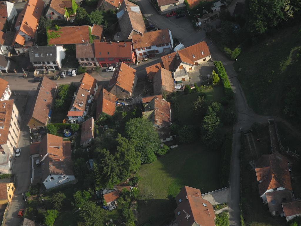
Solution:
<path fill-rule="evenodd" d="M 165 69 L 169 71 L 175 71 L 182 61 L 194 65 L 195 61 L 198 61 L 210 55 L 211 54 L 207 43 L 203 41 L 195 45 L 188 46 L 184 49 L 178 50 L 178 52 L 173 52 L 168 55 L 165 55 L 161 57 L 161 60 Z"/>

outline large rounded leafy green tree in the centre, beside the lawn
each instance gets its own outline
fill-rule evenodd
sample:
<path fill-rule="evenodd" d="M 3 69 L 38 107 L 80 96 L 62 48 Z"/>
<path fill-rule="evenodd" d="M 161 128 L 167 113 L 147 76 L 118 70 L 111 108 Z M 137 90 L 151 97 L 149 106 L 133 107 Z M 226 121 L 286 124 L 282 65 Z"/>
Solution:
<path fill-rule="evenodd" d="M 142 163 L 156 161 L 160 149 L 160 139 L 153 124 L 147 118 L 132 118 L 126 123 L 126 134 L 133 140 L 137 152 L 141 153 Z"/>

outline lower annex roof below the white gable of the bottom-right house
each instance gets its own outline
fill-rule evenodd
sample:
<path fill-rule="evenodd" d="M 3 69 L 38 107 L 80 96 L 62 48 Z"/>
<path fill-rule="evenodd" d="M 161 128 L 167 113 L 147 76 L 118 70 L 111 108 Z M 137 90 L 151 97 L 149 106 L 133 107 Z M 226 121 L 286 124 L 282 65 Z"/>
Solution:
<path fill-rule="evenodd" d="M 270 212 L 278 211 L 279 214 L 283 213 L 282 202 L 292 200 L 291 191 L 289 190 L 278 190 L 266 193 L 266 199 L 268 201 L 268 209 Z M 273 200 L 273 202 L 272 202 Z"/>

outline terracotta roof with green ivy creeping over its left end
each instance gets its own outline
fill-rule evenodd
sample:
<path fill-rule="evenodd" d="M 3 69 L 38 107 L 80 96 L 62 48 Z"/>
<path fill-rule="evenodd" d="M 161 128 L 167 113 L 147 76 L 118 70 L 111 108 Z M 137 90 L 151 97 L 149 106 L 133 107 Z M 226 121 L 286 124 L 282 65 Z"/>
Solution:
<path fill-rule="evenodd" d="M 48 29 L 48 33 L 57 33 L 57 37 L 51 38 L 48 41 L 48 45 L 68 45 L 78 43 L 89 43 L 89 26 L 70 26 L 60 27 L 57 31 L 54 27 Z"/>

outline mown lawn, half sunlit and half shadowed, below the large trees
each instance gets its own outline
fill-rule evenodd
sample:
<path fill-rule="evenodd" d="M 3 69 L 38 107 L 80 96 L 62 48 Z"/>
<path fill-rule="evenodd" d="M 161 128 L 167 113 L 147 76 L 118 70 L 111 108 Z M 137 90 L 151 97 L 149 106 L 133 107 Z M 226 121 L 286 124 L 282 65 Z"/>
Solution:
<path fill-rule="evenodd" d="M 206 152 L 198 143 L 181 145 L 151 164 L 141 165 L 139 222 L 164 225 L 174 218 L 174 197 L 184 185 L 202 193 L 219 189 L 219 153 Z"/>

